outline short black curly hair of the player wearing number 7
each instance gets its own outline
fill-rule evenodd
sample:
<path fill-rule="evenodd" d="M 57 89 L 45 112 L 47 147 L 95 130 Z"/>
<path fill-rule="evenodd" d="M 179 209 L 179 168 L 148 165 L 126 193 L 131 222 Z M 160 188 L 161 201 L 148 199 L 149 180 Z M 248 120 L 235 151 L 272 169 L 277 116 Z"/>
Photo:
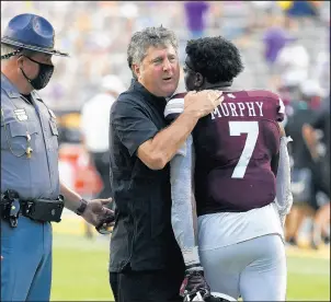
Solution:
<path fill-rule="evenodd" d="M 232 81 L 243 70 L 239 49 L 221 36 L 191 39 L 185 51 L 194 71 L 213 84 Z"/>

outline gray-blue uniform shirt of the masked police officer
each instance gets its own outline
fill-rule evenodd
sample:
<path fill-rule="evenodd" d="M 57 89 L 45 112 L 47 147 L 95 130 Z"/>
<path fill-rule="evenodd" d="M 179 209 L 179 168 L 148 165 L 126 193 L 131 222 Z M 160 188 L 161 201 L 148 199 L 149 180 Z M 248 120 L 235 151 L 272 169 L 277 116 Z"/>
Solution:
<path fill-rule="evenodd" d="M 56 117 L 42 98 L 31 102 L 1 73 L 1 193 L 14 189 L 22 199 L 59 195 Z M 33 149 L 26 156 L 31 138 Z"/>

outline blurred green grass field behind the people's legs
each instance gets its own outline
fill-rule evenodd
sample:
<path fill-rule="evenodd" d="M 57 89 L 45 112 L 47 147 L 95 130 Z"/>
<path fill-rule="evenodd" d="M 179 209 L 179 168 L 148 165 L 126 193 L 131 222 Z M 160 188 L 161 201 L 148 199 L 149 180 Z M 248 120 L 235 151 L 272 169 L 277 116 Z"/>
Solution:
<path fill-rule="evenodd" d="M 52 301 L 113 301 L 109 240 L 54 234 Z M 329 251 L 288 251 L 288 301 L 330 301 Z"/>

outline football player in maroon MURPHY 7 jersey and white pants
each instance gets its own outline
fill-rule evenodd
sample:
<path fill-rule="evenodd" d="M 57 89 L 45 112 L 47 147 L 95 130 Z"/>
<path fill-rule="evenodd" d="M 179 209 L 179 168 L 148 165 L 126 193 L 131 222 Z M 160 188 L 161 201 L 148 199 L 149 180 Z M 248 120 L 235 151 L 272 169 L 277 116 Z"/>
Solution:
<path fill-rule="evenodd" d="M 172 225 L 186 264 L 181 292 L 185 301 L 208 301 L 210 292 L 284 301 L 283 228 L 293 202 L 284 104 L 266 90 L 231 89 L 243 70 L 231 42 L 205 37 L 185 50 L 186 90 L 221 90 L 225 100 L 170 163 Z M 184 95 L 168 102 L 170 121 Z"/>

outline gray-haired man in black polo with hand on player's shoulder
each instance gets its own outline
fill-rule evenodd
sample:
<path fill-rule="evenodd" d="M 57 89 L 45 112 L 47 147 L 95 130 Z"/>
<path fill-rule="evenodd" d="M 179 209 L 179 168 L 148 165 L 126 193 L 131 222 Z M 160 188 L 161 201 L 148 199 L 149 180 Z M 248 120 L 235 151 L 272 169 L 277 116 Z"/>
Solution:
<path fill-rule="evenodd" d="M 168 163 L 221 97 L 216 91 L 189 93 L 184 112 L 166 128 L 166 97 L 174 93 L 180 79 L 173 32 L 161 26 L 135 33 L 128 65 L 132 85 L 111 109 L 116 209 L 110 281 L 116 302 L 182 301 L 184 264 L 171 228 Z"/>

